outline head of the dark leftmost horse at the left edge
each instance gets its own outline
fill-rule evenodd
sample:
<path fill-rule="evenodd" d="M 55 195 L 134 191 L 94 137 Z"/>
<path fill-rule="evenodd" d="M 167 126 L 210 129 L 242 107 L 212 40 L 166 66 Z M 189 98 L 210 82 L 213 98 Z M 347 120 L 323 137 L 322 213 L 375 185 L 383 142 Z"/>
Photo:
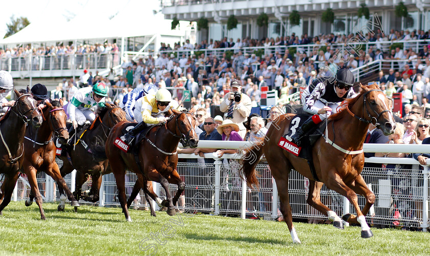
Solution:
<path fill-rule="evenodd" d="M 30 92 L 30 87 L 27 86 L 27 90 L 14 89 L 16 95 L 15 104 L 11 107 L 11 111 L 15 113 L 25 123 L 31 121 L 34 127 L 40 127 L 42 125 L 42 116 L 36 108 L 36 100 L 33 98 Z"/>

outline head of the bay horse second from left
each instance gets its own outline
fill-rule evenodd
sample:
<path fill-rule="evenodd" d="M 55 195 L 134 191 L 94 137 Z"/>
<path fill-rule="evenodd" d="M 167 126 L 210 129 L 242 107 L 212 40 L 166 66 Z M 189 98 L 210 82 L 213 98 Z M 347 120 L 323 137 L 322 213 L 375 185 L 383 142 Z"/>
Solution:
<path fill-rule="evenodd" d="M 67 144 L 69 140 L 69 132 L 66 128 L 66 112 L 62 108 L 62 100 L 53 100 L 52 102 L 46 102 L 49 111 L 49 126 L 55 137 L 58 138 L 61 144 Z"/>

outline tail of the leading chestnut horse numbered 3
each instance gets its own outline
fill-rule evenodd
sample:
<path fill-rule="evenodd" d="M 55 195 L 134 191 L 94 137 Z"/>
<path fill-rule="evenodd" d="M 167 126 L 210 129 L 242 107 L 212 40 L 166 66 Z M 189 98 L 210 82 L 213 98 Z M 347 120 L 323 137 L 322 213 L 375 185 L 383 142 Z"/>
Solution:
<path fill-rule="evenodd" d="M 242 157 L 242 166 L 239 169 L 239 175 L 250 187 L 253 187 L 253 185 L 259 187 L 260 185 L 257 180 L 255 166 L 263 155 L 263 145 L 263 142 L 253 144 L 245 149 L 245 154 Z"/>

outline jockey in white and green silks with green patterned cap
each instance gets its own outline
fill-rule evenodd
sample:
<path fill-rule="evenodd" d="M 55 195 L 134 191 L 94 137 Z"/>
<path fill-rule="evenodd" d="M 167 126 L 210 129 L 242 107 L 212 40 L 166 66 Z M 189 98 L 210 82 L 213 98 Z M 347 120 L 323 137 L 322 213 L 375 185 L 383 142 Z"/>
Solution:
<path fill-rule="evenodd" d="M 68 105 L 70 120 L 73 128 L 82 125 L 85 121 L 93 122 L 96 115 L 91 110 L 93 106 L 105 106 L 104 97 L 107 96 L 107 87 L 103 82 L 94 84 L 93 88 L 84 87 L 76 91 Z"/>

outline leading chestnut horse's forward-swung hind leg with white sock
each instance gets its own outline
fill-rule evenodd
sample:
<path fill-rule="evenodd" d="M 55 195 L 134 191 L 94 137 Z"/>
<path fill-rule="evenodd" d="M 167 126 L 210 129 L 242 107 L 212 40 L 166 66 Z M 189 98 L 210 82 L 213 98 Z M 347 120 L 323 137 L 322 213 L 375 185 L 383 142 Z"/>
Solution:
<path fill-rule="evenodd" d="M 329 207 L 327 207 L 327 205 L 321 203 L 319 192 L 322 185 L 324 185 L 324 183 L 309 180 L 309 194 L 306 201 L 310 206 L 321 212 L 321 214 L 326 215 L 329 220 L 333 222 L 334 227 L 343 229 L 343 222 L 339 216 L 337 216 L 336 212 L 332 211 Z"/>

